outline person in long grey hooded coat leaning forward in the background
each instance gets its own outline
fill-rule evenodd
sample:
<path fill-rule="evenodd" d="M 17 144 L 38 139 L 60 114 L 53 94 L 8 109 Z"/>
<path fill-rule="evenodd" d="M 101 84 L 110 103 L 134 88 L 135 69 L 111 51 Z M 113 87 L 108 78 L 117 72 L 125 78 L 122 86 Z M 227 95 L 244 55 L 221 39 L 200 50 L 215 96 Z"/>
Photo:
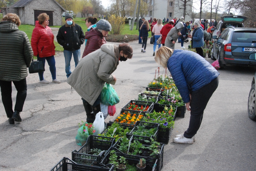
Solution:
<path fill-rule="evenodd" d="M 166 36 L 165 42 L 164 42 L 164 45 L 166 47 L 169 47 L 174 50 L 175 43 L 178 39 L 178 36 L 181 36 L 180 31 L 182 30 L 183 27 L 184 27 L 183 22 L 178 22 L 175 25 L 175 27 L 173 27 L 169 31 L 169 33 Z"/>

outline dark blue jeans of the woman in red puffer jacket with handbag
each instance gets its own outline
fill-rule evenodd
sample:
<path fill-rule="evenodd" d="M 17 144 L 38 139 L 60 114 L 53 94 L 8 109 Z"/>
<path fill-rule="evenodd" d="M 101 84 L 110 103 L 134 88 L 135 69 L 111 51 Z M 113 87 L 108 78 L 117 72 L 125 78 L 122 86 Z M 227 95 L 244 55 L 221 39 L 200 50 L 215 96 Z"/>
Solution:
<path fill-rule="evenodd" d="M 56 79 L 56 67 L 55 67 L 54 56 L 48 56 L 48 57 L 40 58 L 37 55 L 37 60 L 38 61 L 43 61 L 44 67 L 45 67 L 45 60 L 47 60 L 47 63 L 48 63 L 49 68 L 50 68 L 52 80 L 55 80 Z M 40 81 L 44 80 L 44 72 L 38 72 L 38 75 L 39 75 Z"/>

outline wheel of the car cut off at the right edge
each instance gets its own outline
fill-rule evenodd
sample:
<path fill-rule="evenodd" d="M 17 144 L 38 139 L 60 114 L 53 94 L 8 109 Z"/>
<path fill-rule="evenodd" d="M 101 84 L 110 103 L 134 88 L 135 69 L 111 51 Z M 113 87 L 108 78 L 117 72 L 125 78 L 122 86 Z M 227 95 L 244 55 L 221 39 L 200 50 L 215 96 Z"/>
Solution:
<path fill-rule="evenodd" d="M 255 84 L 253 84 L 248 97 L 248 116 L 253 121 L 256 121 L 255 100 Z"/>

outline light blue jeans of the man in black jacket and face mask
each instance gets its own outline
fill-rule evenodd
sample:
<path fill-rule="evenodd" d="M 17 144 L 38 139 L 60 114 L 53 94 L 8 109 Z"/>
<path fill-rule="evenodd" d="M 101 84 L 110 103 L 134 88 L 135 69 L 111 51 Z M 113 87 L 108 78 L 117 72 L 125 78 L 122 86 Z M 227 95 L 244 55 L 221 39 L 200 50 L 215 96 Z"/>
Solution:
<path fill-rule="evenodd" d="M 72 58 L 72 54 L 74 57 L 74 61 L 75 61 L 75 68 L 77 67 L 78 62 L 80 61 L 80 49 L 78 50 L 74 50 L 74 51 L 70 51 L 70 50 L 64 50 L 64 57 L 65 57 L 65 71 L 67 74 L 67 77 L 70 76 L 71 74 L 71 70 L 70 70 L 70 61 Z"/>

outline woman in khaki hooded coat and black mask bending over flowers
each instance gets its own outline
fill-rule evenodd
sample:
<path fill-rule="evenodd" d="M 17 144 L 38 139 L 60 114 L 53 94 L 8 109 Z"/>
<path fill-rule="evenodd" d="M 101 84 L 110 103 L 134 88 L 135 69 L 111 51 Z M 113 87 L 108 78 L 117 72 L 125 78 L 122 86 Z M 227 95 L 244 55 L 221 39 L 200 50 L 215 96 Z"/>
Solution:
<path fill-rule="evenodd" d="M 67 83 L 82 97 L 88 123 L 93 123 L 95 115 L 101 111 L 101 90 L 105 82 L 116 81 L 112 73 L 119 61 L 131 59 L 132 54 L 130 44 L 103 44 L 100 49 L 82 58 L 68 77 Z"/>

